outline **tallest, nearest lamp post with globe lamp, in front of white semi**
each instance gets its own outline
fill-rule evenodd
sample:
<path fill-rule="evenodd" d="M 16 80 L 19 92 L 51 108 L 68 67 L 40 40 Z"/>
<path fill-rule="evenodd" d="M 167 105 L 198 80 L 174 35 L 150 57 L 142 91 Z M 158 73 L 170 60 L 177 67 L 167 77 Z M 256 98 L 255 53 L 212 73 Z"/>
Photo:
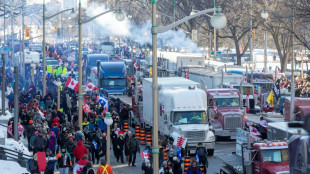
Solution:
<path fill-rule="evenodd" d="M 158 82 L 157 82 L 157 33 L 164 33 L 172 28 L 175 28 L 176 26 L 193 19 L 195 17 L 198 17 L 200 15 L 214 12 L 216 13 L 211 18 L 211 25 L 215 29 L 222 29 L 226 26 L 227 20 L 226 17 L 221 13 L 221 8 L 211 8 L 206 9 L 203 11 L 199 11 L 196 14 L 184 17 L 183 19 L 180 19 L 170 25 L 167 26 L 157 26 L 157 20 L 156 20 L 156 0 L 152 1 L 152 86 L 153 86 L 153 173 L 159 172 L 159 147 L 158 147 Z"/>

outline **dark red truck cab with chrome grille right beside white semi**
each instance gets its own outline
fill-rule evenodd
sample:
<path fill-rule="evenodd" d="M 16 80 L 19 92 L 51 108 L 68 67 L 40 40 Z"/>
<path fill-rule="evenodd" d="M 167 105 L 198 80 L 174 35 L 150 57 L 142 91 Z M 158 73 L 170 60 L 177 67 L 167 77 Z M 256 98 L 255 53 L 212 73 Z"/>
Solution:
<path fill-rule="evenodd" d="M 236 138 L 236 128 L 243 128 L 237 89 L 208 89 L 207 108 L 215 136 Z"/>

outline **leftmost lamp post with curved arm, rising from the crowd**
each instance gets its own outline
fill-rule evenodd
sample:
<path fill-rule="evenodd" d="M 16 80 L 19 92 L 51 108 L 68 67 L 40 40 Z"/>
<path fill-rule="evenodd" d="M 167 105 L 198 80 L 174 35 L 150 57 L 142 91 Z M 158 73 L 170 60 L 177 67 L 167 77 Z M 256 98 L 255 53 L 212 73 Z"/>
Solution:
<path fill-rule="evenodd" d="M 58 12 L 52 16 L 49 16 L 49 17 L 46 17 L 45 16 L 45 0 L 43 0 L 43 49 L 42 49 L 42 55 L 43 55 L 43 97 L 46 95 L 46 57 L 45 57 L 45 21 L 46 20 L 49 20 L 61 13 L 64 13 L 64 12 L 67 12 L 67 11 L 71 11 L 72 13 L 74 12 L 74 8 L 71 8 L 71 9 L 66 9 L 66 10 L 63 10 L 61 12 Z"/>

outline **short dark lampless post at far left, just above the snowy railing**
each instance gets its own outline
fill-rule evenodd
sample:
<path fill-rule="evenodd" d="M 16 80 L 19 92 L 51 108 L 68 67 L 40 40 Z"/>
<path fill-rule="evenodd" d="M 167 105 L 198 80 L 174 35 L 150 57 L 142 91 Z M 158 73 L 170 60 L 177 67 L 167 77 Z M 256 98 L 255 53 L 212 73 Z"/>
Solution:
<path fill-rule="evenodd" d="M 18 66 L 14 67 L 14 140 L 18 141 Z"/>

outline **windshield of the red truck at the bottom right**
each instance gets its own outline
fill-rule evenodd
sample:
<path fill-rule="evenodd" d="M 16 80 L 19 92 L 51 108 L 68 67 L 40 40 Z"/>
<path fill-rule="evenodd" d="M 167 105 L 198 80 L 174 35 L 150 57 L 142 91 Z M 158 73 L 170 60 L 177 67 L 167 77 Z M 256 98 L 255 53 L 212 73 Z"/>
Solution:
<path fill-rule="evenodd" d="M 263 162 L 287 162 L 287 149 L 268 149 L 262 150 Z"/>

